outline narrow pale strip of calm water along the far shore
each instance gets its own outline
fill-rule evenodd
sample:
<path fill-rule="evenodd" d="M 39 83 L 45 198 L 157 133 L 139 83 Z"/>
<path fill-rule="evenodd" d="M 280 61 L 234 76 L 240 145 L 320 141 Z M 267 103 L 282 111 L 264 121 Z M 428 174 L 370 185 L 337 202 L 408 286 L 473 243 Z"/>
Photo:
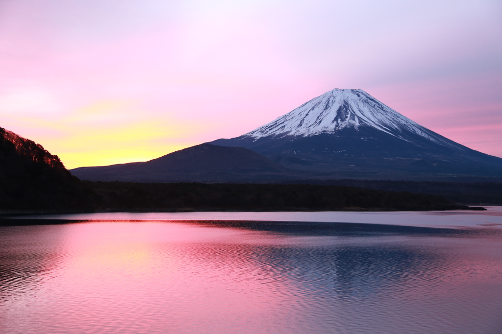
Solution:
<path fill-rule="evenodd" d="M 60 225 L 85 222 L 190 222 L 243 224 L 254 222 L 257 227 L 271 222 L 356 223 L 421 226 L 454 229 L 497 229 L 502 219 L 502 206 L 489 206 L 486 211 L 192 211 L 192 212 L 104 212 L 104 213 L 17 213 L 0 215 L 1 226 Z M 240 221 L 240 223 L 238 223 Z M 219 222 L 219 223 L 218 223 Z M 226 222 L 226 223 L 223 223 Z M 233 223 L 232 223 L 233 222 Z M 268 222 L 268 223 L 267 223 Z M 294 223 L 294 224 L 297 224 Z M 247 224 L 247 223 L 246 223 Z M 283 224 L 283 223 L 280 223 Z M 495 226 L 496 225 L 496 226 Z"/>

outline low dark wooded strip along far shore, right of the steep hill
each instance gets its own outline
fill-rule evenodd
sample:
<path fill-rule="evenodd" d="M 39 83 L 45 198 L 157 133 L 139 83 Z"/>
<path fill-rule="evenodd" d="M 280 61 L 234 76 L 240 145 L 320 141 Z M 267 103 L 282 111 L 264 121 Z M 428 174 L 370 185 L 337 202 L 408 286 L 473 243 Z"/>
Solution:
<path fill-rule="evenodd" d="M 447 210 L 434 195 L 344 186 L 84 182 L 99 209 L 176 210 Z"/>

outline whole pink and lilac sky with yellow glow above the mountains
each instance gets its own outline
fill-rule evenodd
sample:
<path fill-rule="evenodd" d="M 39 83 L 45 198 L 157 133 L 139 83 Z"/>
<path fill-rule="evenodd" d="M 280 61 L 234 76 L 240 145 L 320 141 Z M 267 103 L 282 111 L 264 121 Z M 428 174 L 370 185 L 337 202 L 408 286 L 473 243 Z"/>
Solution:
<path fill-rule="evenodd" d="M 361 88 L 502 157 L 501 40 L 495 0 L 4 0 L 0 126 L 76 168 L 238 136 Z"/>

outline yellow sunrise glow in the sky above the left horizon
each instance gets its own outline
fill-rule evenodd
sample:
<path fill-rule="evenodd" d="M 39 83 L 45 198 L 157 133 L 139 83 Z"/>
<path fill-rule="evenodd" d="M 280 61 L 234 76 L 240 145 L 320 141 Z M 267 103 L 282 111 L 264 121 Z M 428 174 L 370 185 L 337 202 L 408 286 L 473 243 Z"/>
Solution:
<path fill-rule="evenodd" d="M 38 138 L 24 136 L 57 154 L 67 169 L 148 161 L 200 144 L 193 137 L 202 126 L 120 100 L 97 101 L 58 119 L 31 117 L 23 125 L 49 129 Z"/>

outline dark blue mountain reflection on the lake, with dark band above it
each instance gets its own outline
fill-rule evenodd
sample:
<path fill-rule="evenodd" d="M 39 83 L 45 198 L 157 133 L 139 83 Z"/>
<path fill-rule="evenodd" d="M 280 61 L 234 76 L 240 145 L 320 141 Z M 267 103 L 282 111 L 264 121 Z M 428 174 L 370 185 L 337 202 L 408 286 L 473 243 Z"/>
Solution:
<path fill-rule="evenodd" d="M 458 271 L 458 258 L 438 252 L 442 244 L 458 238 L 502 237 L 502 230 L 497 229 L 381 224 L 266 221 L 199 221 L 197 224 L 266 231 L 292 238 L 284 247 L 273 245 L 266 251 L 260 249 L 258 261 L 278 273 L 288 273 L 288 279 L 299 284 L 315 280 L 316 284 L 309 287 L 312 293 L 316 289 L 328 289 L 346 298 L 363 299 L 399 289 L 398 284 L 408 284 L 417 277 L 434 280 L 445 271 Z M 324 293 L 321 290 L 317 293 Z"/>

